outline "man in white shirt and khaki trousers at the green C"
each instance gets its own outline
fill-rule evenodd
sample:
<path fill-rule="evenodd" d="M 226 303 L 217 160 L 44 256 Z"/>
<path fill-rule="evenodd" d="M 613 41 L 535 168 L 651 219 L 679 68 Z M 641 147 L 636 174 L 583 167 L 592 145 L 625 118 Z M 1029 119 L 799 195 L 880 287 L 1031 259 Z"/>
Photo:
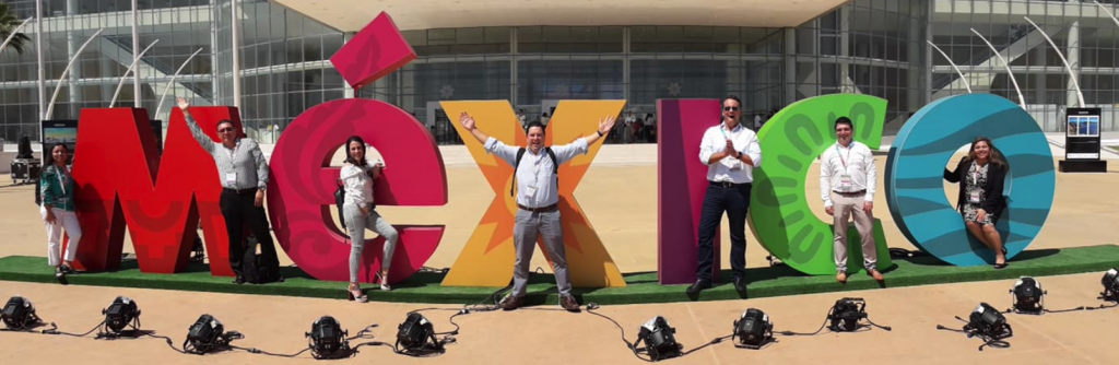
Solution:
<path fill-rule="evenodd" d="M 847 116 L 836 120 L 836 144 L 820 157 L 820 198 L 824 209 L 835 217 L 836 280 L 847 282 L 847 218 L 854 217 L 863 240 L 863 264 L 874 280 L 882 280 L 874 244 L 874 190 L 877 168 L 866 144 L 852 140 L 854 124 Z"/>

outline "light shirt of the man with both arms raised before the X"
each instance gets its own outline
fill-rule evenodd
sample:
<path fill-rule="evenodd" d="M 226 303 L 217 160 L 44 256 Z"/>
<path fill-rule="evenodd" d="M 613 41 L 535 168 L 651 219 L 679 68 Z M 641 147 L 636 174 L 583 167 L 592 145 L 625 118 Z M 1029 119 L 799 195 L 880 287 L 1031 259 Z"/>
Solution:
<path fill-rule="evenodd" d="M 507 146 L 492 137 L 486 140 L 483 147 L 510 166 L 517 162 L 519 147 Z M 552 152 L 556 156 L 556 163 L 563 165 L 579 155 L 586 155 L 587 149 L 586 140 L 580 138 L 568 144 L 553 146 Z M 520 168 L 517 168 L 517 204 L 543 208 L 560 203 L 556 175 L 552 172 L 554 167 L 544 149 L 539 153 L 533 153 L 532 149 L 526 148 L 525 156 L 520 158 Z"/>

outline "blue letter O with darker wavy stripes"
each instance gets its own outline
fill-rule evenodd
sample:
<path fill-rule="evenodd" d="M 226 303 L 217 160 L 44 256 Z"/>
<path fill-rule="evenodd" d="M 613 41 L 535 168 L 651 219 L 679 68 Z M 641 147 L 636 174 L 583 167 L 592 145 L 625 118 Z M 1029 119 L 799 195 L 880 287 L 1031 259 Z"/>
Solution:
<path fill-rule="evenodd" d="M 943 167 L 955 166 L 958 160 L 949 159 L 956 150 L 979 135 L 990 138 L 1010 163 L 1007 208 L 996 228 L 1013 258 L 1041 232 L 1056 189 L 1049 141 L 1022 107 L 991 94 L 938 100 L 902 127 L 886 160 L 886 200 L 899 230 L 919 249 L 959 266 L 995 262 L 995 253 L 967 233 L 943 188 Z"/>

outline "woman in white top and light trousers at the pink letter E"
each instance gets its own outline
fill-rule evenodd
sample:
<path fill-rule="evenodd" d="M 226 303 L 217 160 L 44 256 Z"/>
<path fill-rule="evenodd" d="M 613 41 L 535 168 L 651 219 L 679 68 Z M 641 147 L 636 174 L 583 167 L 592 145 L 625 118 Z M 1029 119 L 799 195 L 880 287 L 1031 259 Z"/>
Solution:
<path fill-rule="evenodd" d="M 370 162 L 365 156 L 365 140 L 354 135 L 346 140 L 346 163 L 342 165 L 339 178 L 346 189 L 346 202 L 342 204 L 342 219 L 350 236 L 350 284 L 349 300 L 365 302 L 368 298 L 361 294 L 357 274 L 361 264 L 361 250 L 365 249 L 365 230 L 369 228 L 385 237 L 384 258 L 380 262 L 380 273 L 377 275 L 382 290 L 392 290 L 388 286 L 388 268 L 392 264 L 393 252 L 396 251 L 398 234 L 388 221 L 380 217 L 373 204 L 373 181 L 380 176 L 385 162 Z"/>

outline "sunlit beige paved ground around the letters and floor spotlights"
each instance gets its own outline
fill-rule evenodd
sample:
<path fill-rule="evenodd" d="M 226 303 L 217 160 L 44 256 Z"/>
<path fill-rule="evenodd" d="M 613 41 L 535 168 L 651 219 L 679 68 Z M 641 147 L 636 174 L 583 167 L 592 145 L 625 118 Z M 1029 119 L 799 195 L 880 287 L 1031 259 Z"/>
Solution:
<path fill-rule="evenodd" d="M 605 152 L 604 152 L 605 153 Z M 596 162 L 598 163 L 598 162 Z M 449 163 L 450 165 L 450 163 Z M 633 166 L 637 165 L 637 166 Z M 884 158 L 878 160 L 880 170 Z M 1115 244 L 1113 222 L 1119 216 L 1119 198 L 1113 189 L 1119 186 L 1119 165 L 1111 165 L 1110 174 L 1057 175 L 1056 202 L 1053 212 L 1031 249 L 1061 249 L 1081 245 Z M 576 197 L 589 215 L 608 250 L 623 272 L 656 270 L 656 167 L 645 163 L 602 163 L 592 168 L 576 190 Z M 812 170 L 808 176 L 816 176 Z M 463 242 L 472 232 L 481 213 L 493 197 L 477 168 L 466 165 L 448 168 L 451 184 L 451 204 L 432 208 L 380 208 L 391 222 L 446 224 L 443 243 L 429 265 L 443 268 L 453 263 Z M 808 179 L 806 191 L 818 195 L 818 187 Z M 8 187 L 7 177 L 0 178 L 0 255 L 45 255 L 45 231 L 35 212 L 32 190 L 29 186 Z M 880 187 L 881 187 L 880 182 Z M 950 196 L 952 193 L 946 193 Z M 877 195 L 875 213 L 885 222 L 890 218 L 882 189 Z M 816 207 L 818 216 L 822 208 Z M 892 246 L 910 247 L 893 224 L 884 224 Z M 749 230 L 749 227 L 747 227 Z M 726 226 L 723 226 L 724 240 Z M 747 264 L 765 264 L 764 250 L 749 237 Z M 131 244 L 125 244 L 131 251 Z M 285 255 L 281 258 L 290 263 Z M 722 255 L 727 266 L 727 253 Z M 1012 262 L 1013 264 L 1013 262 Z M 547 266 L 537 253 L 533 265 Z M 1119 265 L 1119 258 L 1117 258 Z M 1042 278 L 1050 292 L 1050 308 L 1096 305 L 1101 273 Z M 1073 312 L 1042 317 L 1012 316 L 1015 337 L 1009 349 L 977 352 L 978 339 L 935 330 L 937 324 L 962 325 L 953 316 L 967 316 L 979 301 L 996 308 L 1009 306 L 1007 290 L 1010 281 L 977 282 L 897 288 L 850 292 L 868 301 L 871 318 L 882 325 L 893 326 L 893 331 L 874 329 L 859 334 L 824 334 L 815 337 L 780 338 L 780 343 L 761 352 L 734 348 L 717 344 L 686 358 L 673 361 L 680 364 L 731 364 L 743 357 L 764 363 L 827 362 L 848 354 L 866 354 L 886 363 L 976 363 L 979 361 L 1015 362 L 1024 364 L 1052 363 L 1113 363 L 1110 350 L 1113 340 L 1108 336 L 1119 321 L 1119 309 L 1101 312 Z M 339 284 L 339 291 L 344 284 Z M 680 290 L 684 290 L 680 287 Z M 228 329 L 247 336 L 235 344 L 258 347 L 270 352 L 292 353 L 305 344 L 303 333 L 322 315 L 331 315 L 356 333 L 360 327 L 376 322 L 374 334 L 380 340 L 392 340 L 396 325 L 412 309 L 422 303 L 350 303 L 338 300 L 234 296 L 219 293 L 176 292 L 119 288 L 62 287 L 0 281 L 0 298 L 22 294 L 31 298 L 39 313 L 47 321 L 55 321 L 66 331 L 85 331 L 101 320 L 101 309 L 117 294 L 130 296 L 143 310 L 143 327 L 181 341 L 187 328 L 203 312 L 215 315 Z M 778 330 L 811 331 L 822 321 L 839 293 L 798 297 L 733 300 L 696 303 L 637 305 L 605 307 L 600 312 L 618 320 L 633 339 L 638 327 L 649 318 L 661 315 L 678 330 L 678 339 L 687 348 L 731 331 L 732 321 L 746 308 L 765 310 Z M 443 307 L 448 308 L 448 307 Z M 554 309 L 549 307 L 547 309 Z M 446 318 L 451 312 L 429 312 L 436 330 L 448 330 Z M 463 326 L 458 344 L 451 345 L 445 355 L 436 358 L 414 359 L 395 356 L 385 348 L 364 348 L 358 357 L 347 361 L 393 363 L 639 363 L 619 340 L 619 333 L 609 321 L 587 313 L 566 313 L 545 310 L 515 312 L 485 312 L 457 319 Z M 0 333 L 0 358 L 12 364 L 40 363 L 57 358 L 83 358 L 91 363 L 140 364 L 159 358 L 163 363 L 220 363 L 245 362 L 292 363 L 244 353 L 227 353 L 197 357 L 178 355 L 160 340 L 98 341 L 92 338 L 68 338 L 30 334 Z M 43 349 L 49 348 L 45 352 Z M 157 357 L 158 356 L 158 357 Z M 858 356 L 858 355 L 855 355 Z M 867 358 L 867 357 L 862 357 Z M 1107 361 L 1112 358 L 1112 361 Z M 305 354 L 299 362 L 312 362 Z"/>

